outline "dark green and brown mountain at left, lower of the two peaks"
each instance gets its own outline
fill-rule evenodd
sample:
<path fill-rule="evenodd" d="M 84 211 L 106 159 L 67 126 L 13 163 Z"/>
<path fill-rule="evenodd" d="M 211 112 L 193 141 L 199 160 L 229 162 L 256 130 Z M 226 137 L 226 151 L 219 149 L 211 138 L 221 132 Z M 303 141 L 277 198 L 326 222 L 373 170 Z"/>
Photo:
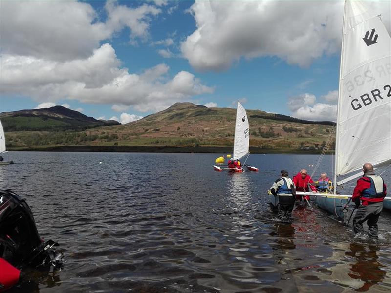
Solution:
<path fill-rule="evenodd" d="M 114 120 L 97 120 L 63 106 L 3 112 L 0 118 L 4 131 L 84 130 L 120 124 Z"/>

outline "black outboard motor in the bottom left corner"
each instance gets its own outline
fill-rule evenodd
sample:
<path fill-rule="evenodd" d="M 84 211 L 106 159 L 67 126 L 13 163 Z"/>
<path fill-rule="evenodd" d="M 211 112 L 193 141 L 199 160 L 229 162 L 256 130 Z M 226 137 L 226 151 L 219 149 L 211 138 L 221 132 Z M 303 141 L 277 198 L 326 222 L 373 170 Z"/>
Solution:
<path fill-rule="evenodd" d="M 0 190 L 0 258 L 15 267 L 61 266 L 57 242 L 41 241 L 31 209 L 11 190 Z"/>

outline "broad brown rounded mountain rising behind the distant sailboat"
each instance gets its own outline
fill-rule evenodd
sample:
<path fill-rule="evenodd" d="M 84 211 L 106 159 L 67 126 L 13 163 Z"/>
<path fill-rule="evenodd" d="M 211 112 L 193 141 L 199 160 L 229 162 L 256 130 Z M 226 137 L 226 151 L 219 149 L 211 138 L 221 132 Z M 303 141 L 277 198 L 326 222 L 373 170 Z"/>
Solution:
<path fill-rule="evenodd" d="M 246 110 L 250 147 L 320 148 L 335 123 L 300 120 L 261 110 Z M 87 137 L 114 135 L 118 146 L 233 146 L 236 109 L 176 103 L 158 113 L 121 126 L 86 130 Z"/>

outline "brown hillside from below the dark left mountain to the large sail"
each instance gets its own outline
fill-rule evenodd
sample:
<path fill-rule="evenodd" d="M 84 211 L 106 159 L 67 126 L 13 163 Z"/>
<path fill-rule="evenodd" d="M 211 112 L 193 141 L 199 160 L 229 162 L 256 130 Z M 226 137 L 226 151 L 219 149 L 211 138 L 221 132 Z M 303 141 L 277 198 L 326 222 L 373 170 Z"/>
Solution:
<path fill-rule="evenodd" d="M 252 152 L 264 149 L 321 149 L 334 128 L 332 122 L 298 120 L 260 110 L 247 110 L 247 116 Z M 83 150 L 87 146 L 91 146 L 91 149 L 94 147 L 94 150 L 99 146 L 102 150 L 108 147 L 113 150 L 126 147 L 142 150 L 146 146 L 153 149 L 201 146 L 232 148 L 235 117 L 236 109 L 233 108 L 176 103 L 126 125 L 100 126 L 81 131 L 9 131 L 6 128 L 5 131 L 10 149 L 53 149 L 57 146 L 62 146 L 62 150 L 66 146 L 77 146 L 76 149 L 83 146 Z"/>

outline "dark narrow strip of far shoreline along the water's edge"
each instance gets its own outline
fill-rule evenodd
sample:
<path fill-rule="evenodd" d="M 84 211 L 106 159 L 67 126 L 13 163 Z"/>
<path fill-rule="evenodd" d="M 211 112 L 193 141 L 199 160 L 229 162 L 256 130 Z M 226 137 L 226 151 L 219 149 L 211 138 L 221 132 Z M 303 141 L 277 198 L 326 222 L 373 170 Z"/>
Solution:
<path fill-rule="evenodd" d="M 47 146 L 8 148 L 10 151 L 64 151 L 64 152 L 151 152 L 151 153 L 232 153 L 230 146 Z M 321 154 L 322 150 L 250 147 L 253 154 Z M 331 151 L 327 151 L 328 154 Z"/>

